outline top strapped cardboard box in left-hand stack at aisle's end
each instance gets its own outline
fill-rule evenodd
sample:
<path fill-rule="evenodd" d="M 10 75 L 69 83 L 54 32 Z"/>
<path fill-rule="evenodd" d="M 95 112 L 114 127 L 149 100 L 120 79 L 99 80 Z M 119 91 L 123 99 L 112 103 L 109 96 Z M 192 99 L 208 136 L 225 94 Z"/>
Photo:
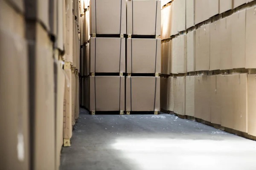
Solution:
<path fill-rule="evenodd" d="M 125 0 L 91 0 L 90 34 L 126 34 Z"/>

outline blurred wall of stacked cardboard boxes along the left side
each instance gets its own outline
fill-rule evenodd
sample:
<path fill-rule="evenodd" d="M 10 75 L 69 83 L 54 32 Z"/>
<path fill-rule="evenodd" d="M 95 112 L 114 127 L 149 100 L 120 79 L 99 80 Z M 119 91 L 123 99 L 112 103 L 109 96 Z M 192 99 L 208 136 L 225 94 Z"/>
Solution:
<path fill-rule="evenodd" d="M 72 6 L 79 2 L 0 1 L 0 169 L 57 170 L 70 145 L 80 46 Z"/>

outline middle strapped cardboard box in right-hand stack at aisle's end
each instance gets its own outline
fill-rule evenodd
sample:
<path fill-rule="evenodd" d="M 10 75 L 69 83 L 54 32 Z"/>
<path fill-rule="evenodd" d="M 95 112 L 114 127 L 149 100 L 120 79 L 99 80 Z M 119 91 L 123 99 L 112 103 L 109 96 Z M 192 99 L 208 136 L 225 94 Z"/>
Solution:
<path fill-rule="evenodd" d="M 161 39 L 127 39 L 127 73 L 160 73 Z"/>

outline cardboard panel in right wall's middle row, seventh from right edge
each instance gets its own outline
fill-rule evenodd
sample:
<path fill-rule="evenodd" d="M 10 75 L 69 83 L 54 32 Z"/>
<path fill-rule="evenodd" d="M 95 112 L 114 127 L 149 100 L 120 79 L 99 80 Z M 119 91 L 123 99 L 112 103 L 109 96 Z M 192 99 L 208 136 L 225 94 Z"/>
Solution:
<path fill-rule="evenodd" d="M 176 43 L 177 42 L 177 43 Z M 187 72 L 187 40 L 186 35 L 180 35 L 175 40 L 177 47 L 177 73 Z"/>

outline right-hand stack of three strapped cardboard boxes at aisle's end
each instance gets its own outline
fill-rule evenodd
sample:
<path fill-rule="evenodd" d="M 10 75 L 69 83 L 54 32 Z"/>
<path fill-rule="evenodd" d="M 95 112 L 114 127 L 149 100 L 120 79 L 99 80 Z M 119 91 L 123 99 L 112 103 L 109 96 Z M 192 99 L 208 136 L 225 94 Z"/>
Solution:
<path fill-rule="evenodd" d="M 127 1 L 127 114 L 160 111 L 160 12 L 159 0 Z"/>

